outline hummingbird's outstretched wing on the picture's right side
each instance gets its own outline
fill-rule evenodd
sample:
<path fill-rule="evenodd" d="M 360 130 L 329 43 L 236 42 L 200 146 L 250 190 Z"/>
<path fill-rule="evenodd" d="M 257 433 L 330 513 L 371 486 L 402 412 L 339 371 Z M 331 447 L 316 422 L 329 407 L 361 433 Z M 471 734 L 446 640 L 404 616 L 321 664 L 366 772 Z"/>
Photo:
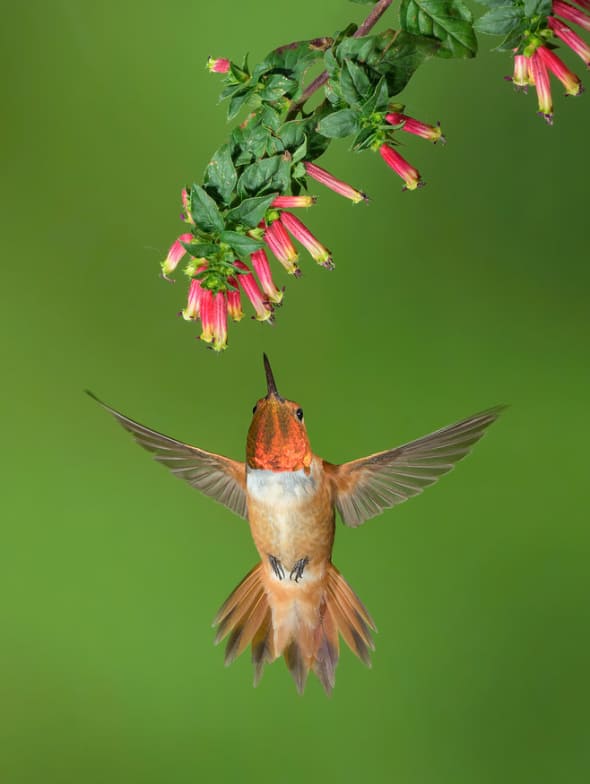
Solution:
<path fill-rule="evenodd" d="M 342 465 L 324 463 L 344 524 L 356 528 L 384 509 L 421 493 L 469 454 L 504 408 L 496 406 L 474 414 L 387 452 Z"/>

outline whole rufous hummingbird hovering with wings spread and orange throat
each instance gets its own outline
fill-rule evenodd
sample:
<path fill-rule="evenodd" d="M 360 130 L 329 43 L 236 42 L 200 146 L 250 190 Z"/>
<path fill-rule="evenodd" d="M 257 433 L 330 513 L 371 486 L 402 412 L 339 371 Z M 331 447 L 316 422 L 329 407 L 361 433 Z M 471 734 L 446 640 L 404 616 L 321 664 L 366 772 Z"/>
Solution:
<path fill-rule="evenodd" d="M 283 656 L 300 694 L 310 671 L 330 694 L 340 637 L 369 666 L 377 631 L 332 563 L 336 512 L 357 528 L 418 495 L 469 453 L 504 406 L 336 465 L 312 451 L 303 409 L 279 394 L 263 359 L 267 392 L 253 409 L 245 462 L 151 430 L 88 394 L 175 476 L 248 521 L 260 562 L 213 622 L 216 644 L 229 635 L 226 665 L 250 645 L 255 686 L 265 665 Z"/>

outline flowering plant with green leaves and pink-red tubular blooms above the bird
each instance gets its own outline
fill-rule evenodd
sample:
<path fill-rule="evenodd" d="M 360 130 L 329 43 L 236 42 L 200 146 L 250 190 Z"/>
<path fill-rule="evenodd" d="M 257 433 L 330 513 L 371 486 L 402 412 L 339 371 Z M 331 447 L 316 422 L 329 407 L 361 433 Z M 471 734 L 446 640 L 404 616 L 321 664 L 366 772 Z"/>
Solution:
<path fill-rule="evenodd" d="M 460 0 L 401 0 L 397 29 L 372 33 L 392 0 L 369 0 L 365 4 L 373 8 L 359 27 L 281 46 L 254 67 L 247 59 L 238 65 L 209 58 L 209 70 L 223 76 L 228 120 L 243 117 L 211 157 L 202 184 L 182 190 L 186 231 L 162 262 L 170 279 L 186 259 L 189 288 L 181 314 L 200 319 L 202 341 L 215 351 L 226 348 L 228 318 L 244 317 L 242 295 L 254 318 L 272 323 L 284 289 L 275 283 L 270 259 L 299 277 L 295 243 L 323 268 L 334 268 L 326 245 L 299 217 L 316 203 L 307 191 L 319 183 L 353 204 L 368 197 L 316 163 L 332 140 L 348 137 L 352 151 L 378 152 L 405 191 L 423 185 L 397 146 L 403 134 L 445 141 L 438 122 L 411 113 L 408 83 L 427 59 L 474 57 L 475 31 L 503 36 L 497 49 L 514 56 L 514 75 L 507 78 L 525 92 L 534 86 L 547 122 L 553 121 L 549 74 L 567 95 L 582 92 L 561 49 L 556 51 L 565 44 L 590 65 L 590 47 L 569 26 L 590 29 L 590 0 L 577 0 L 581 8 L 565 0 L 481 2 L 489 10 L 474 23 Z M 323 71 L 307 83 L 309 69 L 318 64 Z M 308 108 L 320 89 L 323 99 Z"/>

